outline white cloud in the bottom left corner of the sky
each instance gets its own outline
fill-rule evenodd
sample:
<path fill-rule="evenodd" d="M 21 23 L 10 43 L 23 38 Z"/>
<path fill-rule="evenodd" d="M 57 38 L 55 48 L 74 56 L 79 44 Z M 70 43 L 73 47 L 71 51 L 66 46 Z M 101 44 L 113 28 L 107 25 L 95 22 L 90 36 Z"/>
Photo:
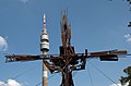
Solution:
<path fill-rule="evenodd" d="M 0 86 L 23 86 L 21 83 L 15 79 L 8 79 L 8 82 L 0 82 Z"/>

